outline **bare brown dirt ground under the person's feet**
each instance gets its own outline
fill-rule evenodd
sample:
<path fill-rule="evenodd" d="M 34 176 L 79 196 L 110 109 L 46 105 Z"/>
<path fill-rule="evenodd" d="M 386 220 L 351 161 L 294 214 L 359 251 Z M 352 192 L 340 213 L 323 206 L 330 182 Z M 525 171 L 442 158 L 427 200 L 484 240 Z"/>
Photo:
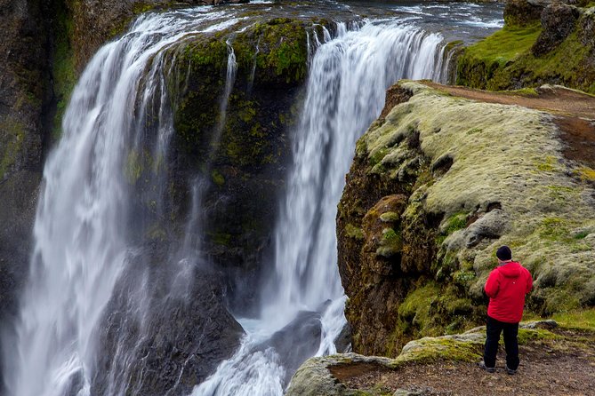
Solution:
<path fill-rule="evenodd" d="M 432 396 L 595 395 L 595 334 L 573 337 L 580 342 L 567 339 L 521 346 L 519 371 L 513 376 L 504 370 L 502 350 L 495 373 L 462 361 L 414 364 L 396 370 L 370 364 L 335 366 L 331 371 L 350 388 L 389 394 L 403 389 Z"/>

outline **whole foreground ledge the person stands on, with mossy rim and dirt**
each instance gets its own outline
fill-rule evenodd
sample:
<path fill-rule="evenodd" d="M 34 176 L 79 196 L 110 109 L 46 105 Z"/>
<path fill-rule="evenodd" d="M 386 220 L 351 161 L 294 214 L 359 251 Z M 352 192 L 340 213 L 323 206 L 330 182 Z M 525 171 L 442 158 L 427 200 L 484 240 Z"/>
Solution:
<path fill-rule="evenodd" d="M 453 336 L 412 341 L 394 360 L 354 353 L 307 360 L 293 377 L 287 394 L 583 394 L 595 379 L 595 373 L 588 369 L 595 362 L 595 315 L 589 309 L 559 318 L 558 323 L 521 322 L 521 362 L 516 376 L 504 371 L 503 348 L 495 373 L 478 367 L 486 333 L 485 327 L 478 327 Z"/>

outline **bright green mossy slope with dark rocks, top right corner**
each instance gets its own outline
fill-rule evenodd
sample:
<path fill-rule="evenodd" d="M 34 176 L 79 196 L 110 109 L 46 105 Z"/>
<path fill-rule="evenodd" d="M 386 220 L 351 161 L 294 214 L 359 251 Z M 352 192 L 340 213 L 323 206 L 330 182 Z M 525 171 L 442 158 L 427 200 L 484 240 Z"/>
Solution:
<path fill-rule="evenodd" d="M 462 51 L 456 82 L 494 91 L 555 83 L 595 92 L 595 7 L 585 4 L 508 1 L 504 28 Z"/>

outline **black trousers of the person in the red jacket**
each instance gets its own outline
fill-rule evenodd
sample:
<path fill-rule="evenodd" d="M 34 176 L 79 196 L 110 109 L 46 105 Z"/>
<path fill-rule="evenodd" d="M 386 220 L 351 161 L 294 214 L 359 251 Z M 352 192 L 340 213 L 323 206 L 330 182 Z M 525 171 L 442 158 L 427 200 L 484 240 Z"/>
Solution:
<path fill-rule="evenodd" d="M 506 366 L 512 370 L 519 368 L 519 323 L 506 323 L 487 317 L 486 348 L 484 362 L 486 367 L 495 367 L 495 356 L 498 352 L 500 333 L 504 332 L 504 348 L 506 349 Z"/>

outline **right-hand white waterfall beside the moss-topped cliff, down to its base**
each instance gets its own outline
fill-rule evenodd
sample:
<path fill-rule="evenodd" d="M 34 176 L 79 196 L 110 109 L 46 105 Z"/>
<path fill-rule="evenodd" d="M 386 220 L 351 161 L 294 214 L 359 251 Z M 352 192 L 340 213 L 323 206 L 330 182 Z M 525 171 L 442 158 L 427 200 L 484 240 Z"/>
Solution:
<path fill-rule="evenodd" d="M 339 24 L 334 39 L 327 31 L 324 36 L 322 44 L 314 37 L 319 45 L 280 202 L 275 272 L 262 291 L 261 318 L 240 319 L 247 332 L 241 348 L 193 396 L 281 395 L 303 360 L 336 352 L 346 322 L 336 205 L 356 140 L 399 78 L 446 78 L 442 37 L 421 28 L 398 21 L 354 30 Z"/>

